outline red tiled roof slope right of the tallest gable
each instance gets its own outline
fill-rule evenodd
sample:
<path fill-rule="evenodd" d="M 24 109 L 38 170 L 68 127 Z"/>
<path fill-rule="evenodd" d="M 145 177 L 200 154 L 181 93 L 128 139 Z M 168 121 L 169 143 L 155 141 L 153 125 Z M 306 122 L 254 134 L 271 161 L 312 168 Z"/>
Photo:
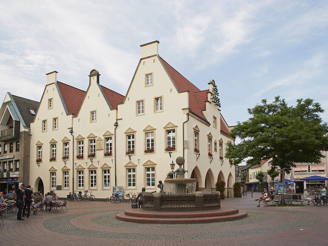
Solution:
<path fill-rule="evenodd" d="M 207 121 L 205 115 L 202 113 L 200 109 L 200 105 L 197 102 L 196 99 L 196 93 L 201 92 L 200 89 L 198 89 L 193 83 L 191 83 L 189 80 L 187 80 L 185 77 L 183 77 L 178 71 L 176 71 L 171 65 L 169 65 L 167 62 L 165 62 L 161 57 L 159 57 L 165 66 L 166 70 L 170 74 L 176 88 L 178 91 L 189 91 L 189 108 L 191 109 L 191 112 L 202 118 L 203 120 Z M 201 94 L 201 93 L 200 93 Z M 203 97 L 200 97 L 199 99 L 202 99 Z M 206 95 L 207 100 L 207 95 Z M 205 104 L 205 101 L 204 101 Z M 208 122 L 208 121 L 207 121 Z"/>

